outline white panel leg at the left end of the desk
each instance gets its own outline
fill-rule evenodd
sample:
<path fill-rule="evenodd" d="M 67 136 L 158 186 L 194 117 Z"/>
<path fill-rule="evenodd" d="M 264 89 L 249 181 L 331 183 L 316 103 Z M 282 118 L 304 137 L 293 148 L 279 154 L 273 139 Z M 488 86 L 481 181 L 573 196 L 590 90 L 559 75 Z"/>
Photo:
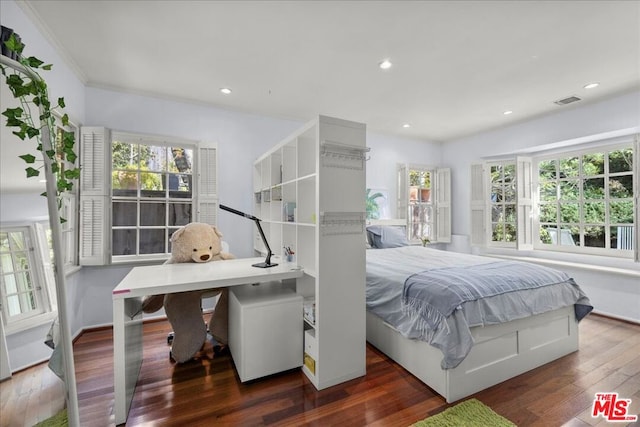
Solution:
<path fill-rule="evenodd" d="M 127 421 L 142 365 L 142 313 L 139 298 L 113 300 L 113 400 L 116 425 Z"/>

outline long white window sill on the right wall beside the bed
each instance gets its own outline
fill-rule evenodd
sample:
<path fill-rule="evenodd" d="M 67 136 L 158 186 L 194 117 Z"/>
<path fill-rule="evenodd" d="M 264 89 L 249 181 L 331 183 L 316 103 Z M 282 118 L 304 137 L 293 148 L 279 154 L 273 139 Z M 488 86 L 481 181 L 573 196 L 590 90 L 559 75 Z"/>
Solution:
<path fill-rule="evenodd" d="M 555 267 L 574 267 L 584 270 L 606 271 L 640 278 L 640 264 L 631 259 L 613 258 L 599 255 L 569 254 L 547 251 L 518 251 L 516 249 L 487 248 L 482 255 L 535 262 Z"/>

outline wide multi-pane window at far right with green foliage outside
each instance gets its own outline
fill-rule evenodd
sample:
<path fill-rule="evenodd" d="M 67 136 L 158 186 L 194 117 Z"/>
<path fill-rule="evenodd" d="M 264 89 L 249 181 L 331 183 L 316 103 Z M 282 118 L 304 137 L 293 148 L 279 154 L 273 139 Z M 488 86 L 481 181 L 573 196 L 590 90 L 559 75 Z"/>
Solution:
<path fill-rule="evenodd" d="M 631 253 L 633 173 L 630 144 L 541 158 L 537 247 Z"/>

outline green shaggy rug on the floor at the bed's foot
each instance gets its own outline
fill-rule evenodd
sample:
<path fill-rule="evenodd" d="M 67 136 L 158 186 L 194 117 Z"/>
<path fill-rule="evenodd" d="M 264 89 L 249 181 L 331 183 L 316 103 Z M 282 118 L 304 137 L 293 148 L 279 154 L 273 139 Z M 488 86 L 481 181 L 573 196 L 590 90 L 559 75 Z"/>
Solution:
<path fill-rule="evenodd" d="M 516 427 L 476 399 L 469 399 L 445 409 L 432 417 L 413 424 L 413 427 Z"/>

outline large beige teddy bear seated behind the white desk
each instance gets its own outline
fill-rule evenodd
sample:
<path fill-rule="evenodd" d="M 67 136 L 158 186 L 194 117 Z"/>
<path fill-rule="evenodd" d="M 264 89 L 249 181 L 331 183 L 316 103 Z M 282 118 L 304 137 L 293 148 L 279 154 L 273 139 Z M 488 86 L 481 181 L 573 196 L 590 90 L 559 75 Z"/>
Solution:
<path fill-rule="evenodd" d="M 214 225 L 189 223 L 171 235 L 171 257 L 165 264 L 234 259 L 232 254 L 222 251 L 221 238 L 222 233 Z M 156 312 L 164 306 L 173 328 L 171 357 L 177 363 L 193 358 L 207 338 L 207 326 L 202 319 L 202 298 L 205 295 L 219 295 L 208 329 L 218 344 L 224 346 L 228 342 L 229 300 L 226 288 L 148 295 L 142 300 L 145 313 Z"/>

